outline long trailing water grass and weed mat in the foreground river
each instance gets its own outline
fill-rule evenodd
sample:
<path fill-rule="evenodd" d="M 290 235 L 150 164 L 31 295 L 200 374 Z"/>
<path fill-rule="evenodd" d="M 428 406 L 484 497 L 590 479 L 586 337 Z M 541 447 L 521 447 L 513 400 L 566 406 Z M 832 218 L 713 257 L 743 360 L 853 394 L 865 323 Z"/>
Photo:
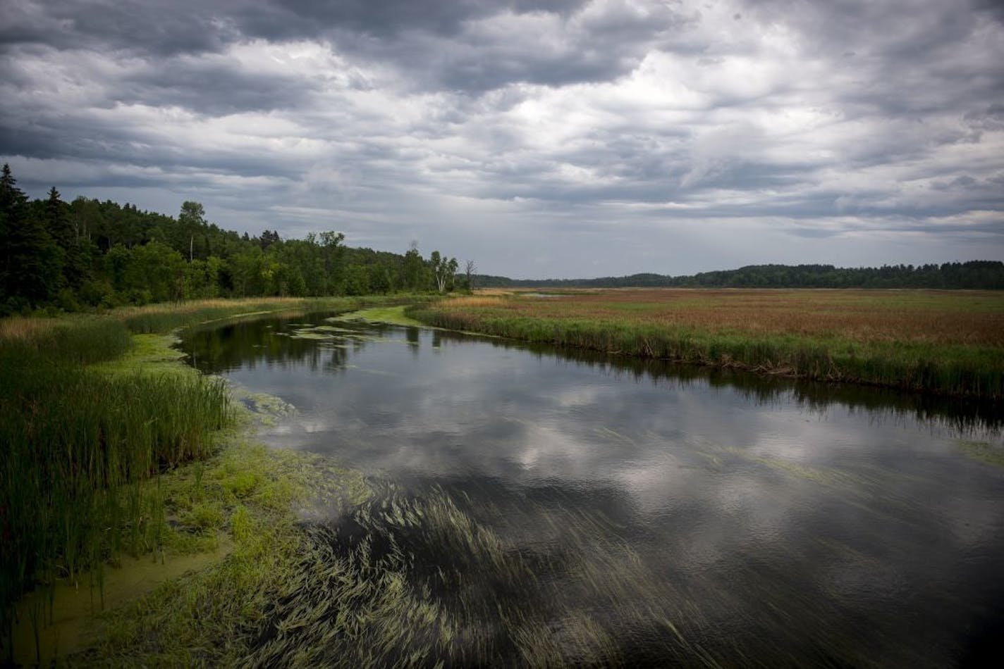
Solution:
<path fill-rule="evenodd" d="M 382 481 L 374 496 L 339 507 L 333 522 L 297 526 L 276 516 L 263 532 L 261 517 L 241 505 L 231 516 L 234 550 L 225 561 L 110 614 L 101 644 L 74 660 L 713 667 L 827 657 L 868 664 L 866 650 L 828 631 L 824 616 L 803 622 L 800 630 L 816 634 L 793 642 L 791 655 L 756 634 L 709 634 L 719 622 L 708 612 L 733 606 L 729 589 L 695 592 L 652 571 L 602 518 L 561 504 L 531 507 L 498 508 L 440 487 L 410 493 Z M 552 541 L 521 545 L 526 515 Z M 489 529 L 486 520 L 500 525 Z M 509 533 L 516 534 L 504 538 Z M 802 596 L 758 594 L 779 612 Z"/>

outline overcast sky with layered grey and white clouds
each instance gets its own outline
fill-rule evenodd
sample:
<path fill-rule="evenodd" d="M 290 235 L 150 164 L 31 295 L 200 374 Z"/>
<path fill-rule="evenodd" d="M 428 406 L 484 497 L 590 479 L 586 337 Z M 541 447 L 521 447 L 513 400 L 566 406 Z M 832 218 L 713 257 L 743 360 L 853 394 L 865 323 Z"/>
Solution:
<path fill-rule="evenodd" d="M 4 0 L 43 197 L 484 274 L 1004 260 L 999 0 Z"/>

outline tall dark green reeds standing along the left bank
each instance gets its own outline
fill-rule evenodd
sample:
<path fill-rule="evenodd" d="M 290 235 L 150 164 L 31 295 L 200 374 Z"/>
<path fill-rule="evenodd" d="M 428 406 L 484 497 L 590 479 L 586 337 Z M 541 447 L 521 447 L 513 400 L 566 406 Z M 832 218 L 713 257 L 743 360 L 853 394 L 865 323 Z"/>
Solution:
<path fill-rule="evenodd" d="M 86 583 L 120 553 L 162 547 L 163 504 L 142 483 L 206 457 L 232 422 L 218 379 L 91 366 L 131 346 L 110 317 L 0 328 L 0 645 L 8 651 L 13 605 L 27 590 Z"/>

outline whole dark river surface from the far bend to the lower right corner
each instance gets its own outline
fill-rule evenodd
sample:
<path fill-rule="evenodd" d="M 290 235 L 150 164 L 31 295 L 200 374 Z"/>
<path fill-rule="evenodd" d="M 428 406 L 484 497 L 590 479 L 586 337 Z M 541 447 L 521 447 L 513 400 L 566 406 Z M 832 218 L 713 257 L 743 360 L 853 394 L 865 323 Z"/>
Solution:
<path fill-rule="evenodd" d="M 509 630 L 456 663 L 1000 658 L 999 406 L 326 316 L 184 347 L 296 407 L 264 440 L 336 456 L 403 507 L 447 498 L 490 533 L 505 578 L 435 533 L 407 540 L 432 597 L 485 603 Z"/>

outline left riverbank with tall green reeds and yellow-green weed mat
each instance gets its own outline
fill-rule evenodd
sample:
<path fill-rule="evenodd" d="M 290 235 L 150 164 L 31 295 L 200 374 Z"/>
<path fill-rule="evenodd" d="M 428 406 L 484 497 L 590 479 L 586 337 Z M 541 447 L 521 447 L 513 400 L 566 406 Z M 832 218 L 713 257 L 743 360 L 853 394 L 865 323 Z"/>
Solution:
<path fill-rule="evenodd" d="M 172 332 L 371 303 L 220 300 L 0 322 L 0 657 L 246 654 L 275 580 L 302 560 L 303 510 L 366 488 L 323 458 L 256 445 L 269 416 L 184 364 Z"/>

